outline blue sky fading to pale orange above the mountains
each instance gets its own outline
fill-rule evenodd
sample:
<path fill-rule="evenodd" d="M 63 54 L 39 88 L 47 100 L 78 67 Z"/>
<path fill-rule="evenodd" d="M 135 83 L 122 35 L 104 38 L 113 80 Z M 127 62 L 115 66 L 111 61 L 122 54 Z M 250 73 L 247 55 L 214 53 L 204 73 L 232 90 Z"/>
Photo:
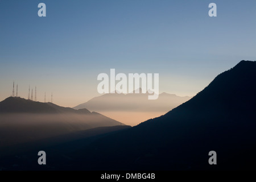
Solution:
<path fill-rule="evenodd" d="M 46 17 L 38 4 L 46 4 Z M 209 3 L 217 17 L 210 17 Z M 0 0 L 0 100 L 73 107 L 99 96 L 97 76 L 159 73 L 159 91 L 194 96 L 241 60 L 256 60 L 256 1 Z"/>

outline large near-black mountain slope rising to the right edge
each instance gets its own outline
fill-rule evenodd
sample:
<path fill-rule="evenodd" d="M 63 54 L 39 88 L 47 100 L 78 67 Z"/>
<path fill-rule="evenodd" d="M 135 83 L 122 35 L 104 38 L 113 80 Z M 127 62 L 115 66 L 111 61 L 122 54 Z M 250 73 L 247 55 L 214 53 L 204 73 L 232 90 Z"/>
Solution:
<path fill-rule="evenodd" d="M 256 169 L 255 83 L 256 62 L 241 61 L 161 117 L 91 143 L 80 140 L 76 151 L 51 155 L 70 143 L 47 148 L 47 169 Z M 217 165 L 209 165 L 209 151 L 217 152 Z M 24 155 L 26 169 L 46 169 L 34 164 L 34 153 Z"/>

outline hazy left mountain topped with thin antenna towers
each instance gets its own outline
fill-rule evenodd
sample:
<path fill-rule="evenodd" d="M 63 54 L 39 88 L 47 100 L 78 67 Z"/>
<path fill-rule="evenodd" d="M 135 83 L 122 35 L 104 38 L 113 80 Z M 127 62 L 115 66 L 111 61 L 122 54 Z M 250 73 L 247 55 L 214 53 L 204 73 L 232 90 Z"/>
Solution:
<path fill-rule="evenodd" d="M 0 147 L 117 125 L 124 124 L 87 109 L 75 110 L 19 97 L 0 102 Z"/>

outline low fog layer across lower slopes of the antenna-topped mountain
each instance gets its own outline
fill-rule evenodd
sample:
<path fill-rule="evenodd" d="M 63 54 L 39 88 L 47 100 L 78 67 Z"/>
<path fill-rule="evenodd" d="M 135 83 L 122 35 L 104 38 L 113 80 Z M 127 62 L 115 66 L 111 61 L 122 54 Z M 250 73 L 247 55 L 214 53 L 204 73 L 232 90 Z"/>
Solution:
<path fill-rule="evenodd" d="M 0 114 L 0 148 L 94 127 L 123 125 L 98 113 Z"/>

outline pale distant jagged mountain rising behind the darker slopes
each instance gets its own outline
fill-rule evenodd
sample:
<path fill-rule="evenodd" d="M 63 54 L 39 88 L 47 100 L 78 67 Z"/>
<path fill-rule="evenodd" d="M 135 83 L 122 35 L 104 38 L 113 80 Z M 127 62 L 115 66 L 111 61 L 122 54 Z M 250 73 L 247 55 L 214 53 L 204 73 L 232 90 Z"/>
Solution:
<path fill-rule="evenodd" d="M 174 107 L 183 104 L 191 97 L 180 97 L 175 94 L 159 94 L 157 100 L 148 100 L 148 93 L 108 93 L 94 97 L 84 104 L 80 104 L 74 109 L 86 108 L 93 111 L 164 111 L 167 112 Z"/>

